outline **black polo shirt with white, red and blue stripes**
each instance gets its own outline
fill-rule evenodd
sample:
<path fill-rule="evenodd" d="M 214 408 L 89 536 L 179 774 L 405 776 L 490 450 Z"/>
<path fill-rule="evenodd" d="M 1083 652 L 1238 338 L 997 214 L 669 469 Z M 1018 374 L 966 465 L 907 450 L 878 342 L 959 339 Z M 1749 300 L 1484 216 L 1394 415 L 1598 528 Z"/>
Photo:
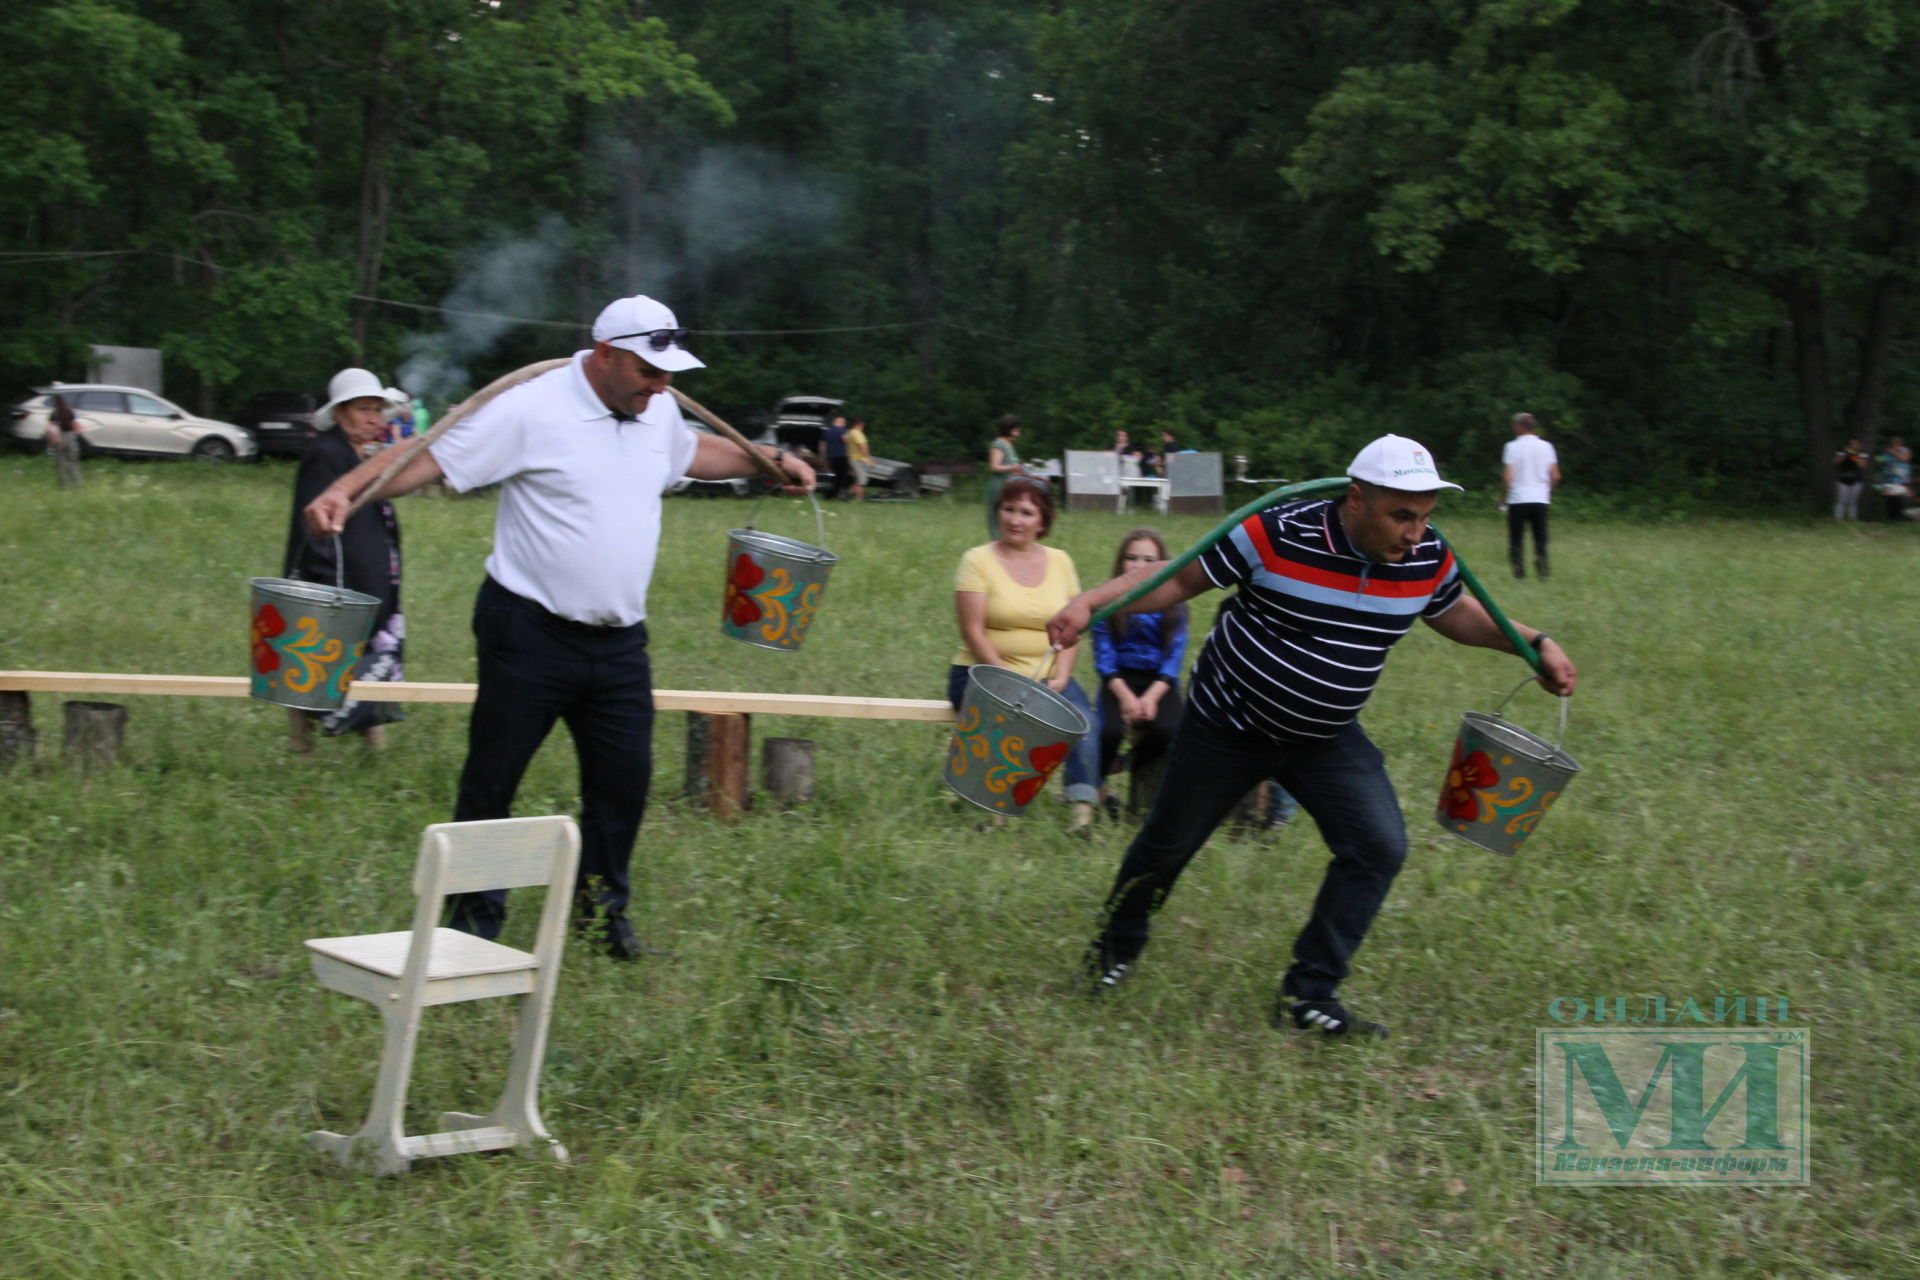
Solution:
<path fill-rule="evenodd" d="M 1269 507 L 1200 557 L 1215 587 L 1238 587 L 1188 691 L 1212 723 L 1281 743 L 1332 737 L 1359 716 L 1413 620 L 1459 601 L 1459 566 L 1438 533 L 1379 564 L 1348 541 L 1338 501 Z"/>

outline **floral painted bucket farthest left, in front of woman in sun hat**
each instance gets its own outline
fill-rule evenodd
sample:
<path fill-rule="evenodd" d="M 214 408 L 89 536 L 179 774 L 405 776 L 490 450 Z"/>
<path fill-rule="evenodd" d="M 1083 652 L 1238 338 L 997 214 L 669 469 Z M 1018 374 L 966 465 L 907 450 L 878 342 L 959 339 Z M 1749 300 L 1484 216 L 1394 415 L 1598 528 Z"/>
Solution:
<path fill-rule="evenodd" d="M 248 689 L 261 702 L 338 710 L 367 649 L 380 601 L 361 591 L 292 578 L 253 578 L 253 652 Z"/>

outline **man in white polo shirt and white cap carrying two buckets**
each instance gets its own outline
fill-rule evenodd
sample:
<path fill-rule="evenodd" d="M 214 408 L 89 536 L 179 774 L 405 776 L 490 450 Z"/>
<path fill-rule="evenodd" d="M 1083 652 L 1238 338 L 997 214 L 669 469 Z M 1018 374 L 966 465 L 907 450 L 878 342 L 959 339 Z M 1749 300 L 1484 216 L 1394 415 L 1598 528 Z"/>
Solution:
<path fill-rule="evenodd" d="M 693 432 L 666 393 L 676 372 L 705 367 L 685 340 L 651 297 L 609 303 L 589 351 L 449 428 L 386 489 L 501 486 L 474 603 L 480 689 L 453 819 L 507 818 L 534 752 L 564 720 L 580 758 L 576 908 L 607 921 L 607 948 L 620 960 L 641 952 L 626 906 L 653 771 L 645 620 L 660 497 L 684 476 L 755 474 L 743 449 Z M 778 457 L 795 486 L 812 487 L 812 468 Z M 378 470 L 371 459 L 321 493 L 307 507 L 313 530 L 336 532 Z M 492 938 L 505 915 L 507 894 L 486 890 L 455 898 L 449 923 Z"/>

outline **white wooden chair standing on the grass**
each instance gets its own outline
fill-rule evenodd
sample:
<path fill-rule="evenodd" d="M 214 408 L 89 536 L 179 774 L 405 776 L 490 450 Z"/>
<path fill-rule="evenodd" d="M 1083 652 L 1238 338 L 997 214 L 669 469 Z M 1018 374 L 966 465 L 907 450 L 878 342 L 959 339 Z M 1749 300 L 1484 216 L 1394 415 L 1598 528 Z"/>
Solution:
<path fill-rule="evenodd" d="M 419 906 L 413 929 L 357 938 L 309 938 L 313 973 L 332 990 L 380 1009 L 386 1044 L 367 1123 L 357 1134 L 319 1130 L 307 1142 L 346 1167 L 407 1173 L 411 1161 L 457 1151 L 528 1148 L 566 1161 L 566 1148 L 540 1121 L 540 1065 L 547 1054 L 547 1021 L 566 946 L 580 829 L 572 818 L 501 818 L 447 821 L 420 837 L 413 871 Z M 447 894 L 478 889 L 547 887 L 534 952 L 520 952 L 455 929 L 440 929 Z M 518 1032 L 513 1065 L 499 1103 L 486 1115 L 445 1111 L 438 1134 L 407 1136 L 407 1082 L 420 1034 L 420 1009 L 461 1000 L 516 996 Z"/>

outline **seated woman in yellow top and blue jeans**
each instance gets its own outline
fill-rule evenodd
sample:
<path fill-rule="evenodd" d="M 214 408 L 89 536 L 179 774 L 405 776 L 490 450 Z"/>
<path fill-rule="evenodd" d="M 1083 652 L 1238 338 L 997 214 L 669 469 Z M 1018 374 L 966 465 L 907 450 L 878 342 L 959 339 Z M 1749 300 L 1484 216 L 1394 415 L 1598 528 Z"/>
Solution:
<path fill-rule="evenodd" d="M 973 664 L 1004 666 L 1031 679 L 1046 670 L 1046 620 L 1079 595 L 1073 557 L 1041 539 L 1054 528 L 1054 497 L 1044 480 L 1010 476 L 1000 487 L 996 509 L 1000 535 L 960 557 L 954 574 L 954 610 L 960 618 L 960 649 L 947 674 L 947 700 L 960 708 L 966 672 Z M 1092 821 L 1098 796 L 1100 725 L 1087 693 L 1073 679 L 1079 645 L 1054 656 L 1048 685 L 1077 706 L 1092 731 L 1068 756 L 1068 804 L 1073 827 Z"/>

